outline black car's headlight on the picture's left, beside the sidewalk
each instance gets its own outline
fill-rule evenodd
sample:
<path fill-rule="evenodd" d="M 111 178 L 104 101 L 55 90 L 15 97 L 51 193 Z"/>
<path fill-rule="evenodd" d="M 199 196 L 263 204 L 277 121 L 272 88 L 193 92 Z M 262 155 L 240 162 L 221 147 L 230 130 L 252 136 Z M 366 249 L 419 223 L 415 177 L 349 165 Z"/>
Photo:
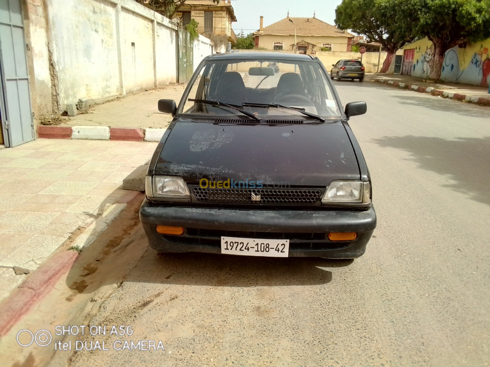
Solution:
<path fill-rule="evenodd" d="M 190 199 L 191 194 L 182 177 L 147 176 L 145 191 L 148 197 Z"/>

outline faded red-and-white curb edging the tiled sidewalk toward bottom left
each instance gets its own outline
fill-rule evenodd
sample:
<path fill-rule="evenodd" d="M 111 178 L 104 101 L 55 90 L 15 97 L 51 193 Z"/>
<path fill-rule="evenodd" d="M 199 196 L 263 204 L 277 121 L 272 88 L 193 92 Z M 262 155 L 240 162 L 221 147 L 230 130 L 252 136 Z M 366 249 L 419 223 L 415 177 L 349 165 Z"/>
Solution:
<path fill-rule="evenodd" d="M 81 248 L 90 245 L 133 200 L 142 194 L 128 191 L 115 204 L 109 206 L 100 217 L 74 239 L 71 246 Z M 66 247 L 66 246 L 65 246 Z M 0 338 L 5 336 L 72 267 L 79 257 L 76 251 L 67 251 L 61 245 L 39 269 L 32 272 L 14 292 L 0 304 Z"/>

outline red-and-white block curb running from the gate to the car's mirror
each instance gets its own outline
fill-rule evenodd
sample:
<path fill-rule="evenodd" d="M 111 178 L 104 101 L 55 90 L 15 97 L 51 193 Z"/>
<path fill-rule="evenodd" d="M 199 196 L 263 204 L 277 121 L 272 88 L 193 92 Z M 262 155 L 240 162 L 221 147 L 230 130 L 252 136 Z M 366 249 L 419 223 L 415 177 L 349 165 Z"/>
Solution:
<path fill-rule="evenodd" d="M 140 129 L 107 126 L 39 125 L 37 137 L 46 139 L 90 139 L 124 141 L 160 141 L 167 129 Z"/>

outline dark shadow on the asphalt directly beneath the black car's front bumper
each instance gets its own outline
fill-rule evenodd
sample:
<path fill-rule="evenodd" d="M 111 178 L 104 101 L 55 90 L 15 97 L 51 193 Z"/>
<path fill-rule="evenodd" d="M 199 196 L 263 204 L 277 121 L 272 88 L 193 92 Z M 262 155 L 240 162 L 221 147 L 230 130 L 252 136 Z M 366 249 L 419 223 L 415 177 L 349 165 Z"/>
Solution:
<path fill-rule="evenodd" d="M 332 280 L 332 273 L 322 268 L 343 267 L 352 261 L 208 253 L 157 254 L 149 248 L 125 281 L 210 287 L 319 285 Z"/>

